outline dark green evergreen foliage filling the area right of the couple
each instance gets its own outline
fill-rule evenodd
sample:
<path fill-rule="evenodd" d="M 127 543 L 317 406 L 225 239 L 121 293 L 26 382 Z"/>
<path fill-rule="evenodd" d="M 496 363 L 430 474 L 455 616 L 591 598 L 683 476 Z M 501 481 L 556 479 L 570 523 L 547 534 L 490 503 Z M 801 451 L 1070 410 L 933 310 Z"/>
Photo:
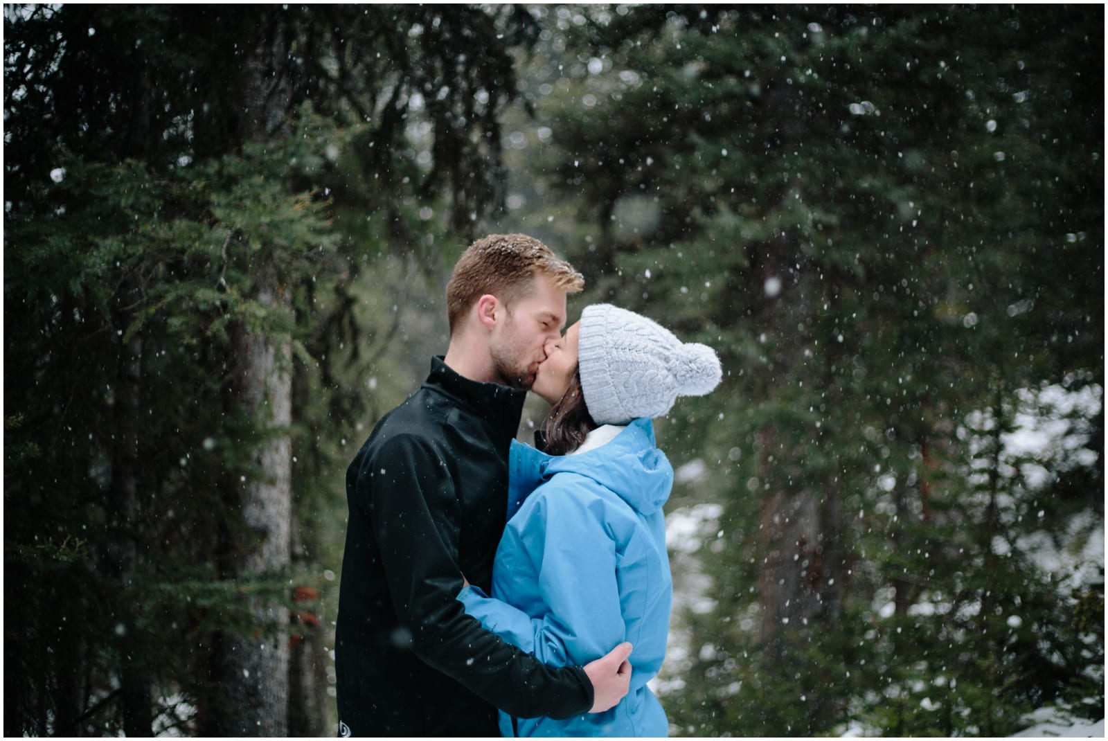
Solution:
<path fill-rule="evenodd" d="M 1102 527 L 1100 11 L 573 12 L 571 258 L 728 374 L 661 433 L 722 505 L 675 728 L 1005 735 L 1102 697 L 1034 560 Z M 1008 451 L 1036 406 L 1073 447 Z"/>

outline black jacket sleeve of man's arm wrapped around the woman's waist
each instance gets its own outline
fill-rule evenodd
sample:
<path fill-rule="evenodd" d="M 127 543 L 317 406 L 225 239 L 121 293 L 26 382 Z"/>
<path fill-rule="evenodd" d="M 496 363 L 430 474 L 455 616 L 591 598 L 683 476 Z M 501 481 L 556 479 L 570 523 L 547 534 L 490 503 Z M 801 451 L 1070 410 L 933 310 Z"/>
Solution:
<path fill-rule="evenodd" d="M 585 670 L 546 667 L 482 628 L 454 598 L 463 585 L 458 501 L 447 467 L 425 441 L 400 435 L 382 442 L 367 456 L 358 492 L 397 617 L 421 660 L 520 718 L 571 718 L 594 704 Z"/>

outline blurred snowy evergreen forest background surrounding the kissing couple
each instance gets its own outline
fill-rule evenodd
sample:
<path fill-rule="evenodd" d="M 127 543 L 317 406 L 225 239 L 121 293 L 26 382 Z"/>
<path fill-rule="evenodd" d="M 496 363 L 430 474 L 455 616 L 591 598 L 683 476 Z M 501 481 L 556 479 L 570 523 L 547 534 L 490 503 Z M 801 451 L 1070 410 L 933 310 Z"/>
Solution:
<path fill-rule="evenodd" d="M 334 735 L 346 466 L 506 231 L 724 361 L 673 734 L 1104 717 L 1102 7 L 3 28 L 6 735 Z"/>

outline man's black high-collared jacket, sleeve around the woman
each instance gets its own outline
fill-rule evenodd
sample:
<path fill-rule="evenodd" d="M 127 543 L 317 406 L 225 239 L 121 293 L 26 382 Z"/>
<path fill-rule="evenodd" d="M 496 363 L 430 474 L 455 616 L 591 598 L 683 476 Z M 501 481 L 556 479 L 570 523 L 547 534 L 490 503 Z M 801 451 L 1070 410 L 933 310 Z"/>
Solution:
<path fill-rule="evenodd" d="M 347 470 L 340 733 L 499 735 L 496 708 L 570 718 L 592 707 L 584 670 L 544 666 L 455 599 L 462 574 L 490 589 L 524 397 L 434 358 L 423 385 L 381 419 Z"/>

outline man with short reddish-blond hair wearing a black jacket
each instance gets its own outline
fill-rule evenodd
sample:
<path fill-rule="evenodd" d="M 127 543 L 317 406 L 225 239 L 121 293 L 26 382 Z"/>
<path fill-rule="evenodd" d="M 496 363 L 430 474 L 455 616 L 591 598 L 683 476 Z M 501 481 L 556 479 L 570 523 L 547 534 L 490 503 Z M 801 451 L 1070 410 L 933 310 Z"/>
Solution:
<path fill-rule="evenodd" d="M 507 451 L 526 389 L 583 279 L 524 235 L 492 235 L 447 286 L 450 344 L 347 471 L 336 628 L 343 735 L 497 735 L 521 718 L 601 712 L 627 692 L 629 644 L 553 669 L 455 599 L 488 590 L 507 508 Z M 464 574 L 464 577 L 463 577 Z"/>

